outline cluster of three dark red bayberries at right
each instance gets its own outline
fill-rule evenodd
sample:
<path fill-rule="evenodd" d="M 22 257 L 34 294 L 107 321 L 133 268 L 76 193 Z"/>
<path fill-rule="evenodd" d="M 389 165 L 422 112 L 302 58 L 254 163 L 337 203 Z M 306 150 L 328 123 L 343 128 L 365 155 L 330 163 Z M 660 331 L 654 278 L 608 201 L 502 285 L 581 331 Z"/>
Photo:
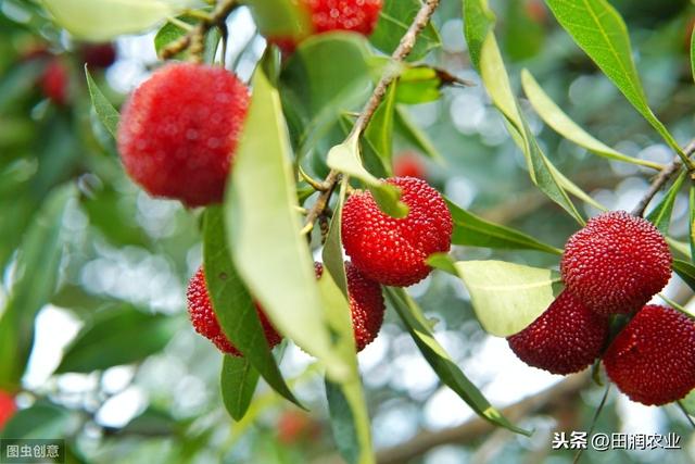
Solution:
<path fill-rule="evenodd" d="M 570 237 L 560 272 L 566 289 L 529 327 L 508 338 L 527 364 L 579 372 L 603 356 L 630 399 L 666 404 L 695 388 L 695 321 L 647 305 L 671 276 L 671 253 L 648 221 L 604 213 Z M 609 340 L 611 319 L 631 317 Z"/>

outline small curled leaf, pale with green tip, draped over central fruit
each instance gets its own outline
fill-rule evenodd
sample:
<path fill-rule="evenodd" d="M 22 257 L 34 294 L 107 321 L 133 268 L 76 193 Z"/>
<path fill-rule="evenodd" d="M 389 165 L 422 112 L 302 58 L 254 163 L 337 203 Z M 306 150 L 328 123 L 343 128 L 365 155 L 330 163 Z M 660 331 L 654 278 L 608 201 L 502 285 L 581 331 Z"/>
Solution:
<path fill-rule="evenodd" d="M 344 143 L 333 147 L 328 152 L 328 165 L 333 170 L 362 180 L 374 196 L 381 211 L 393 217 L 405 217 L 408 214 L 408 206 L 400 201 L 400 189 L 376 178 L 362 165 L 358 140 L 359 135 L 356 134 L 345 140 Z"/>

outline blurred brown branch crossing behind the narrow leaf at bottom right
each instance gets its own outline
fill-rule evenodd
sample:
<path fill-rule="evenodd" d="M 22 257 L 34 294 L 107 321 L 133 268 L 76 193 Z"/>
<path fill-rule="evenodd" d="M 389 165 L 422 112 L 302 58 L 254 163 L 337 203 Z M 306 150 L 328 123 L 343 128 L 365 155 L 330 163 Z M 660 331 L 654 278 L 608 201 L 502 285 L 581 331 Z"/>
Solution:
<path fill-rule="evenodd" d="M 566 404 L 568 399 L 577 394 L 590 383 L 587 372 L 567 377 L 559 384 L 543 390 L 532 397 L 504 407 L 502 413 L 510 421 L 545 410 L 553 405 Z M 410 441 L 377 453 L 378 464 L 404 464 L 429 450 L 447 443 L 465 443 L 479 439 L 495 430 L 495 426 L 480 417 L 472 418 L 457 427 L 439 431 L 422 431 Z"/>

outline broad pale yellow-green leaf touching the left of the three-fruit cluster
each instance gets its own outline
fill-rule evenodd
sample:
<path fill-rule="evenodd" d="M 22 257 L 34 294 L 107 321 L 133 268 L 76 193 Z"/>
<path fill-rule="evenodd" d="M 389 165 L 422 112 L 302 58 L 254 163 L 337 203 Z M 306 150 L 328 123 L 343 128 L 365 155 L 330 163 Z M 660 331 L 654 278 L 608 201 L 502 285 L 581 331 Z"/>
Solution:
<path fill-rule="evenodd" d="M 482 328 L 497 337 L 523 330 L 561 289 L 554 271 L 504 261 L 459 261 L 456 269 Z"/>

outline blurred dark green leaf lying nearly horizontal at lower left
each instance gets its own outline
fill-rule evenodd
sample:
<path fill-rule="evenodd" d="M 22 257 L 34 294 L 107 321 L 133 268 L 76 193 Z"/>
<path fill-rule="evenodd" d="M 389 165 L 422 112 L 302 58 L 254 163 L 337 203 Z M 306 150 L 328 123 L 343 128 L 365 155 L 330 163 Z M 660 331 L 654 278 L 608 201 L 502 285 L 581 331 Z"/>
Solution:
<path fill-rule="evenodd" d="M 162 351 L 176 326 L 177 319 L 170 316 L 148 314 L 130 305 L 104 310 L 80 330 L 55 373 L 90 373 L 137 363 Z M 132 334 L 138 335 L 137 342 Z"/>

